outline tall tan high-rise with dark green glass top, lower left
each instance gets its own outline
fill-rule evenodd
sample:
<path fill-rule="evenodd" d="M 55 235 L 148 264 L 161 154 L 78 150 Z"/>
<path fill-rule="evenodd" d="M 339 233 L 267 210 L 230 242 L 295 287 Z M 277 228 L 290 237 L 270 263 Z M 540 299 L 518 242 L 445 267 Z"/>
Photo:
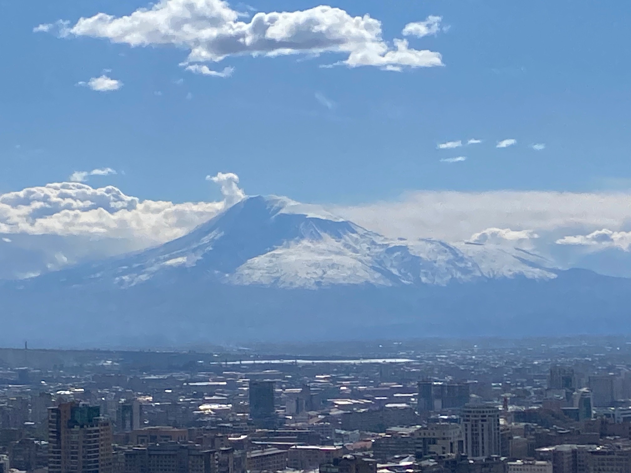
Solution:
<path fill-rule="evenodd" d="M 112 473 L 112 427 L 100 407 L 67 402 L 48 414 L 50 473 Z"/>

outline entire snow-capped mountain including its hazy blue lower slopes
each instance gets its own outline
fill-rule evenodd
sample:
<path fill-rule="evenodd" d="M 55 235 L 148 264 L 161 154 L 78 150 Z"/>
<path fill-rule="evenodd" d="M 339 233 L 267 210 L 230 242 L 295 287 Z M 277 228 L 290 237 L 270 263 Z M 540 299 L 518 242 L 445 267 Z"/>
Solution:
<path fill-rule="evenodd" d="M 317 206 L 254 196 L 158 247 L 4 281 L 0 343 L 610 333 L 626 326 L 630 289 L 521 248 L 393 240 Z"/>

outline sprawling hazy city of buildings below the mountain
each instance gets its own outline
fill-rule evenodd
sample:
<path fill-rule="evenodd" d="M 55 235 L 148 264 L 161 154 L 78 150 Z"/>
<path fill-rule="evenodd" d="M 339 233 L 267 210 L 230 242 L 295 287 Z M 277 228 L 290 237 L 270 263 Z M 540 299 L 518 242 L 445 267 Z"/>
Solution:
<path fill-rule="evenodd" d="M 0 452 L 3 473 L 623 473 L 631 339 L 0 349 Z"/>

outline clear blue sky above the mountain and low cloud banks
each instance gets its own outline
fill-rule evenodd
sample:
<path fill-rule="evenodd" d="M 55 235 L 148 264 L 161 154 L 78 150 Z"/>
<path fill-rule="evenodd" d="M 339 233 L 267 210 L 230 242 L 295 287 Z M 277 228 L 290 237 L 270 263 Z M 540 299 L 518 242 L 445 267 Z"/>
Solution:
<path fill-rule="evenodd" d="M 247 55 L 204 63 L 234 67 L 228 78 L 209 77 L 179 66 L 188 51 L 171 45 L 33 33 L 42 23 L 147 5 L 0 1 L 0 193 L 105 167 L 117 175 L 88 184 L 174 202 L 218 196 L 204 180 L 217 172 L 237 173 L 249 194 L 346 204 L 418 189 L 581 192 L 631 182 L 625 2 L 331 3 L 380 20 L 387 41 L 410 22 L 441 16 L 447 31 L 408 40 L 439 52 L 444 67 L 401 72 L 319 67 L 348 54 Z M 319 3 L 249 5 L 271 12 Z M 103 74 L 124 86 L 76 85 Z M 437 149 L 471 138 L 483 143 Z M 509 138 L 517 143 L 495 148 Z M 457 156 L 467 159 L 440 161 Z"/>

